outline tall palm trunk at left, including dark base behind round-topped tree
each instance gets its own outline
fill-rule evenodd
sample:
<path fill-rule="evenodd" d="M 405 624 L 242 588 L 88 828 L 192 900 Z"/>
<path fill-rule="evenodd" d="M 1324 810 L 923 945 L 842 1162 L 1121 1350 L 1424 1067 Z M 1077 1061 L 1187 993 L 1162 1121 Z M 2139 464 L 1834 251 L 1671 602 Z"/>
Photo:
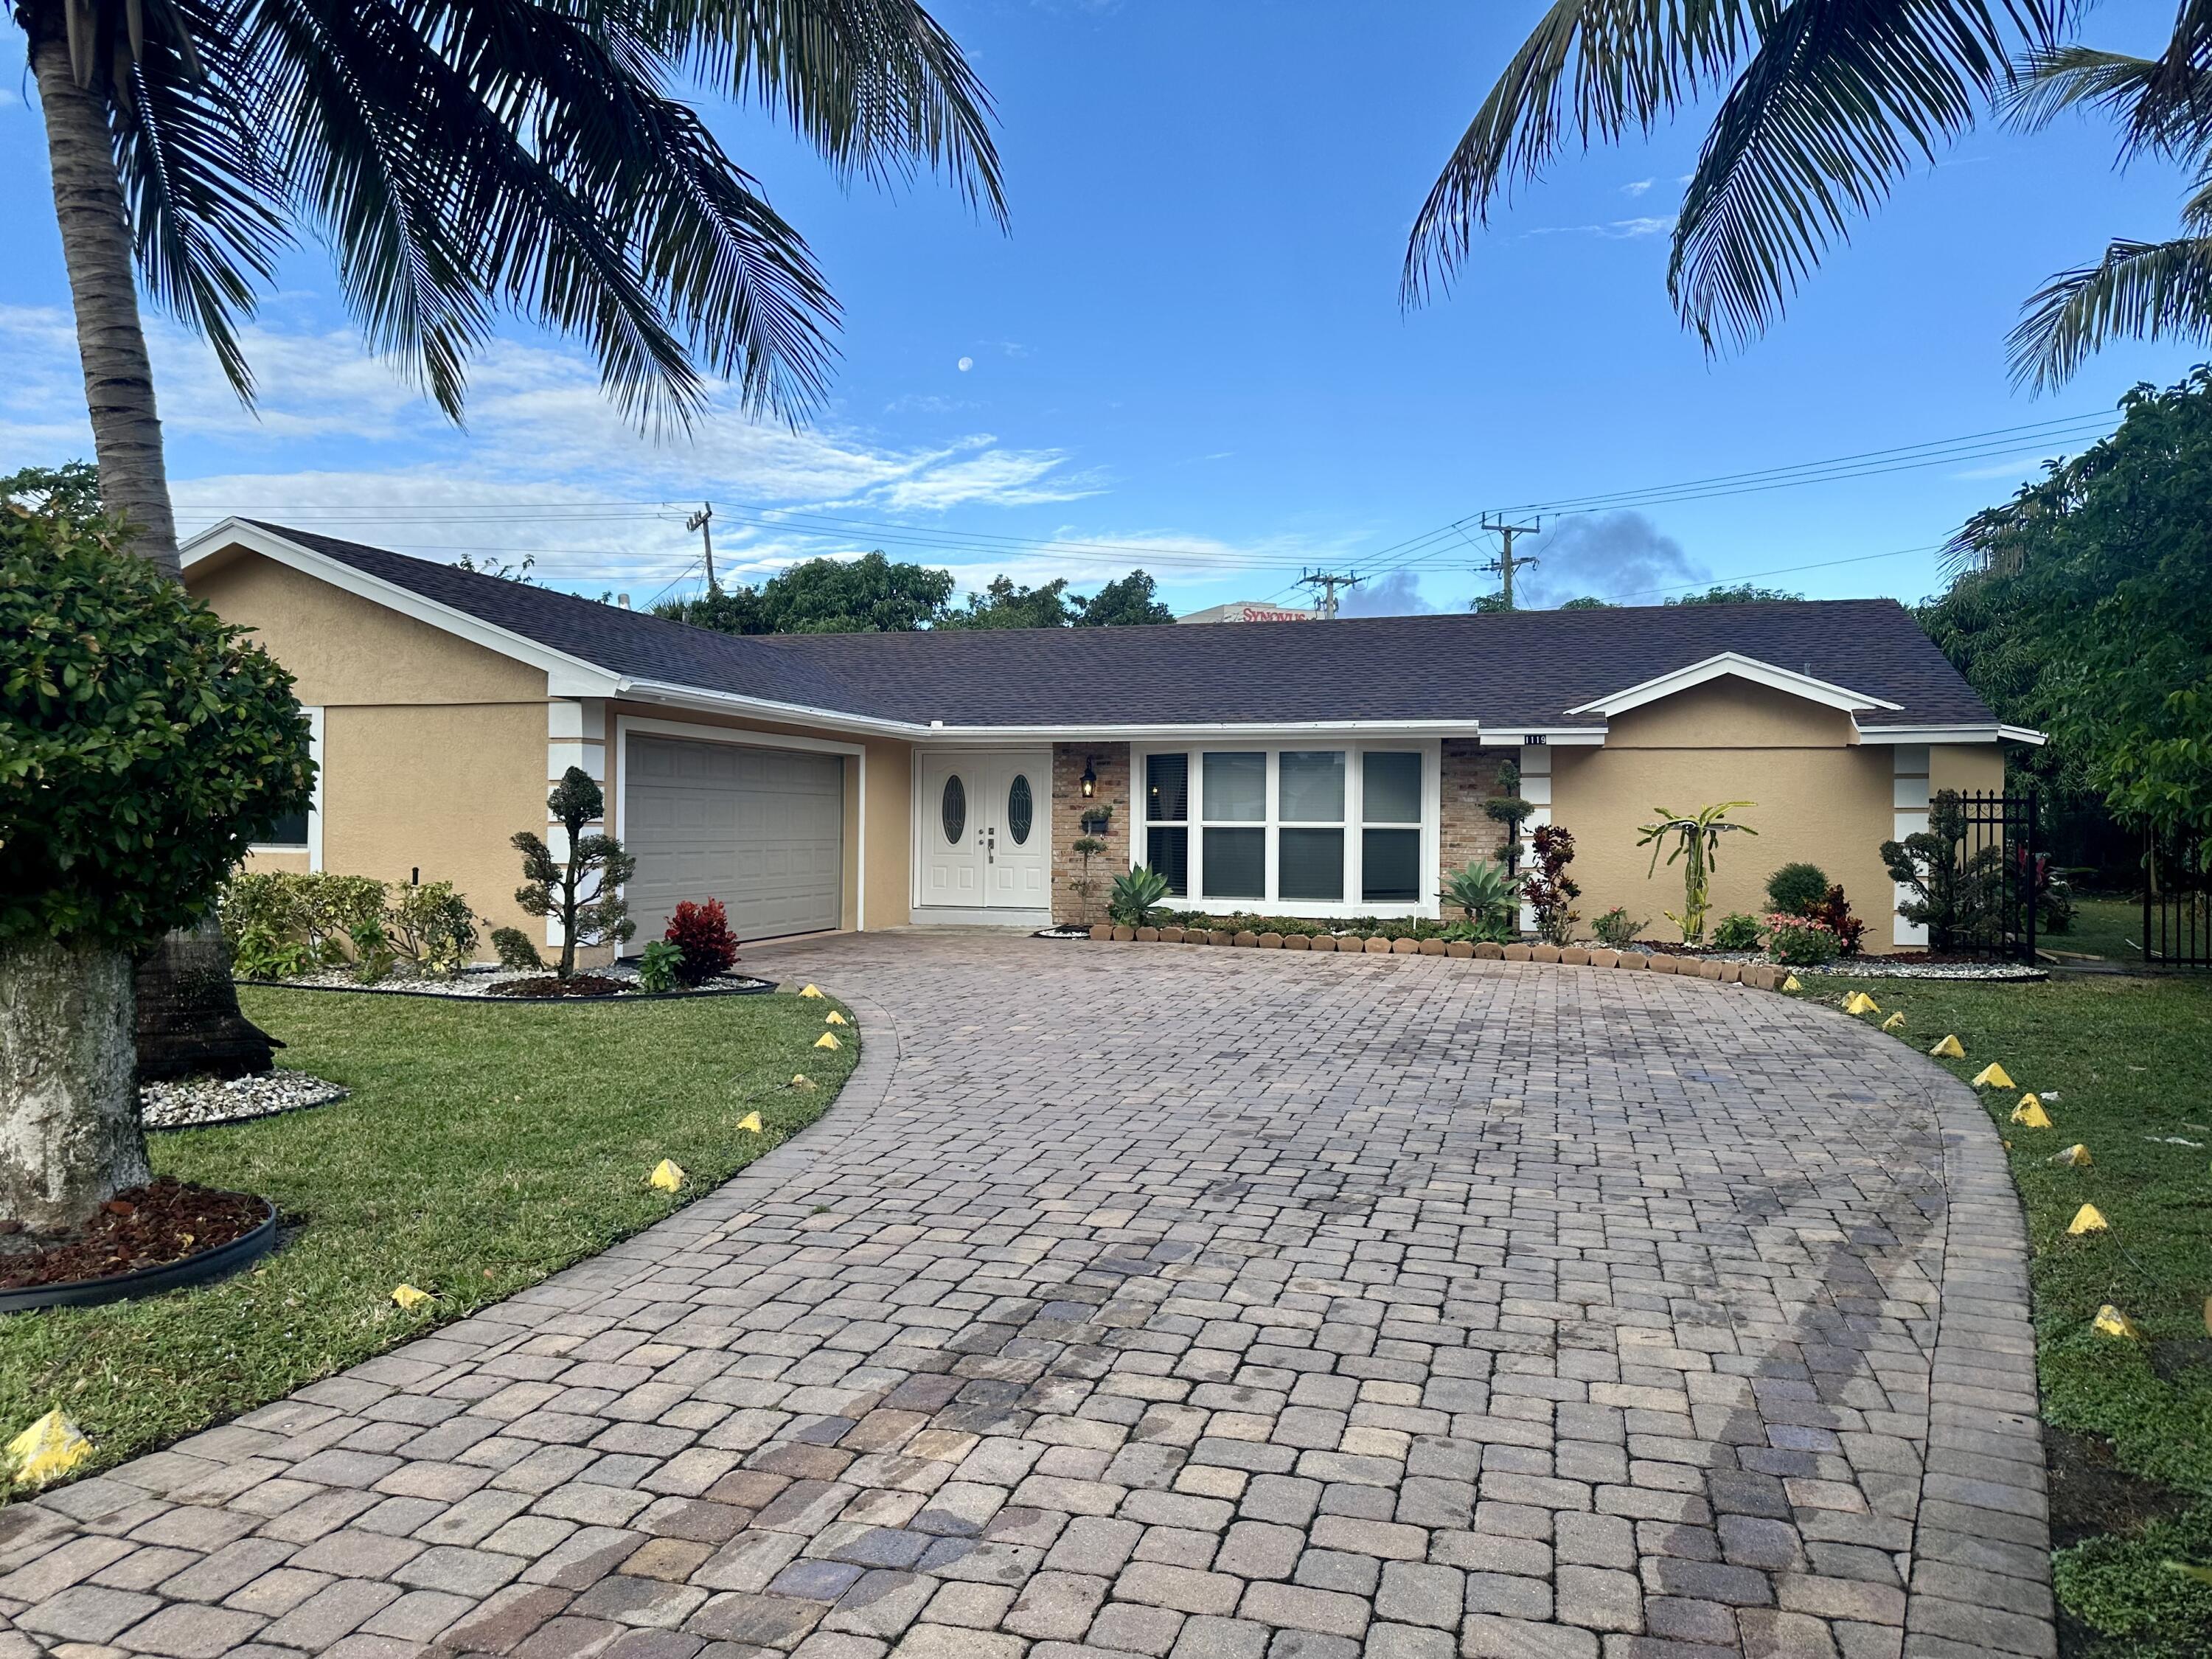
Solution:
<path fill-rule="evenodd" d="M 131 219 L 115 175 L 106 108 L 77 84 L 55 9 L 27 7 L 24 22 L 46 115 L 53 212 L 62 226 L 62 261 L 77 314 L 100 500 L 128 522 L 133 551 L 179 575 L 161 418 L 131 261 Z M 212 916 L 146 953 L 137 969 L 137 1066 L 144 1079 L 192 1071 L 232 1077 L 268 1071 L 270 1060 L 270 1037 L 239 1011 L 230 951 Z"/>

